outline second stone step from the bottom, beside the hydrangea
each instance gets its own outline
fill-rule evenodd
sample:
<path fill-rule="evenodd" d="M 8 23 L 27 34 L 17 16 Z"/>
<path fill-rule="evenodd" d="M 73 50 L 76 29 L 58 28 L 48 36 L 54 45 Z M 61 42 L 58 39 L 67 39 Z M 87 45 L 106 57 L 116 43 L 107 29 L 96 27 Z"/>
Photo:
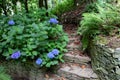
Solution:
<path fill-rule="evenodd" d="M 65 62 L 78 63 L 88 65 L 91 62 L 91 59 L 88 56 L 80 56 L 78 54 L 64 54 Z"/>

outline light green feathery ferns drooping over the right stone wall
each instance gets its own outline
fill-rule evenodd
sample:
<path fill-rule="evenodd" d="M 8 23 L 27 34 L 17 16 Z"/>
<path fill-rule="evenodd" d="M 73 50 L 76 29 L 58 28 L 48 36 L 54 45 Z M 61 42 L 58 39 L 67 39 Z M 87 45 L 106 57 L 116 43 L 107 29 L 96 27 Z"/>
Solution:
<path fill-rule="evenodd" d="M 109 35 L 111 30 L 120 25 L 119 9 L 110 4 L 103 6 L 97 5 L 98 13 L 84 13 L 81 26 L 78 33 L 83 36 L 82 44 L 85 50 L 90 41 L 92 41 L 98 34 Z"/>

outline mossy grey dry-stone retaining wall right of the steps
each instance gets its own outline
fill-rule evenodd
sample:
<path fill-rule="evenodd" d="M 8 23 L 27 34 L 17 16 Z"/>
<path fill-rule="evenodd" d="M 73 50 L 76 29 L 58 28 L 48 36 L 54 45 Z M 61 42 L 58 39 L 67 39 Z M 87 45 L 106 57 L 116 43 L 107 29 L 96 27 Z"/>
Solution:
<path fill-rule="evenodd" d="M 91 45 L 92 67 L 100 80 L 120 80 L 120 48 Z"/>

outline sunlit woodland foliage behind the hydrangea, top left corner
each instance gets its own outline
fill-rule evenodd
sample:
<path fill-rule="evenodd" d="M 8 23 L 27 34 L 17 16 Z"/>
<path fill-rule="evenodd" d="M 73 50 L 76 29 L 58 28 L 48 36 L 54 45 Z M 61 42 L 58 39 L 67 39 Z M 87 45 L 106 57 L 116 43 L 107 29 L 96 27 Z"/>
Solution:
<path fill-rule="evenodd" d="M 39 0 L 0 0 L 0 14 L 10 16 L 19 12 L 26 12 L 26 9 L 28 12 L 34 11 L 34 9 L 39 9 L 38 2 Z"/>

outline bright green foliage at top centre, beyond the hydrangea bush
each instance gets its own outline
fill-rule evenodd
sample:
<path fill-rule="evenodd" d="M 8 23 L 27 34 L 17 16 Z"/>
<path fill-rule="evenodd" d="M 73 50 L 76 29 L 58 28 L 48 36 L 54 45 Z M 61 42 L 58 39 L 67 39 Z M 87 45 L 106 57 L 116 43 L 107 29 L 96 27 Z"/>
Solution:
<path fill-rule="evenodd" d="M 64 0 L 63 2 L 57 4 L 53 9 L 52 13 L 60 16 L 61 14 L 70 11 L 74 8 L 74 0 Z"/>

